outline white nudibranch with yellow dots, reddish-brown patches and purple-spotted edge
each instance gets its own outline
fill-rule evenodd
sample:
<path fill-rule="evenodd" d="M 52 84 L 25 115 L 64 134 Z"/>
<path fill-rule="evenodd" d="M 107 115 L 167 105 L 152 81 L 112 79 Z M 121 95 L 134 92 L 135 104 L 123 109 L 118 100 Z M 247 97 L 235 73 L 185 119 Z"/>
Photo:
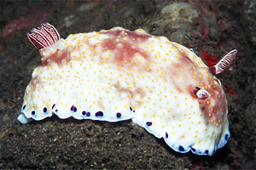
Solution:
<path fill-rule="evenodd" d="M 72 34 L 48 23 L 27 34 L 41 54 L 18 120 L 132 119 L 173 150 L 212 156 L 230 138 L 218 73 L 237 50 L 207 67 L 189 48 L 143 29 Z"/>

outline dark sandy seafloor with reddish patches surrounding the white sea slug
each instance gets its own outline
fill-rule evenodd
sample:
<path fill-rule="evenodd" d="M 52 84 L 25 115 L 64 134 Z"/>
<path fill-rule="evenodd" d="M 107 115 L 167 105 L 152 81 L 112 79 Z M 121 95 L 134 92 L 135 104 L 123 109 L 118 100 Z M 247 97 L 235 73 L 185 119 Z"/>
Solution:
<path fill-rule="evenodd" d="M 255 169 L 255 19 L 254 1 L 1 1 L 0 168 Z M 26 32 L 44 22 L 63 38 L 114 26 L 143 28 L 194 48 L 208 64 L 237 48 L 232 65 L 217 76 L 229 102 L 228 144 L 213 156 L 196 156 L 177 153 L 131 121 L 52 116 L 20 124 L 23 94 L 40 62 Z"/>

